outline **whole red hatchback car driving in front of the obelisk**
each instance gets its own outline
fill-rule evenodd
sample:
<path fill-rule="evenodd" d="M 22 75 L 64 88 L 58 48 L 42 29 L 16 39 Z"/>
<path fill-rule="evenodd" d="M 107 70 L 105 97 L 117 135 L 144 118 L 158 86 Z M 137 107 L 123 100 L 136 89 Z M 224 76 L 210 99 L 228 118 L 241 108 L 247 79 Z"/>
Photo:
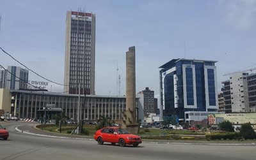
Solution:
<path fill-rule="evenodd" d="M 124 147 L 125 145 L 138 147 L 142 142 L 140 136 L 132 135 L 127 130 L 120 127 L 104 127 L 99 129 L 94 134 L 94 139 L 99 145 L 102 145 L 104 142 L 109 142 L 112 145 L 118 143 L 121 147 Z"/>

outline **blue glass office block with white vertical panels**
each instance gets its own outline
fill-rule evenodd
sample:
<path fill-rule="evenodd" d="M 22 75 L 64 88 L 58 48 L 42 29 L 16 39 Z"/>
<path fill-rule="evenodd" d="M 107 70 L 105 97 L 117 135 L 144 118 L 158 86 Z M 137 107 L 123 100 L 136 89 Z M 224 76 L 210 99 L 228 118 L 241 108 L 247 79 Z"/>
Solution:
<path fill-rule="evenodd" d="M 200 121 L 217 113 L 216 61 L 172 59 L 159 67 L 163 118 Z"/>

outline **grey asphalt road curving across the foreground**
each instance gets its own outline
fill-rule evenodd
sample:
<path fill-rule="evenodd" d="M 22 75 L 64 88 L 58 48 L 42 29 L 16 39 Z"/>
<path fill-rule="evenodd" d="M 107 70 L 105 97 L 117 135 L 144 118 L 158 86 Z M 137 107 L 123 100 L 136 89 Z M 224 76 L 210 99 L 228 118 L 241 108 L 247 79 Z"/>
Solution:
<path fill-rule="evenodd" d="M 56 138 L 29 135 L 29 122 L 1 122 L 10 132 L 7 141 L 0 140 L 0 159 L 255 159 L 256 145 L 205 145 L 143 142 L 139 147 L 97 145 L 84 138 Z M 38 131 L 40 132 L 40 131 Z M 43 134 L 44 132 L 40 133 Z M 37 133 L 39 134 L 39 133 Z M 49 134 L 49 133 L 47 133 Z M 45 133 L 45 135 L 47 135 Z"/>

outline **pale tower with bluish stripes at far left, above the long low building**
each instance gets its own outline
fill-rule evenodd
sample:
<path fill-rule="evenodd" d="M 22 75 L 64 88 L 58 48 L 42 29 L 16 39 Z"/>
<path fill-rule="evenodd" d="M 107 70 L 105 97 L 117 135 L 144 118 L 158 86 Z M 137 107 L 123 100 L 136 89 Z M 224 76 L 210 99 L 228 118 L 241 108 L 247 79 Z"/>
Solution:
<path fill-rule="evenodd" d="M 28 89 L 28 70 L 17 66 L 8 66 L 5 89 Z"/>

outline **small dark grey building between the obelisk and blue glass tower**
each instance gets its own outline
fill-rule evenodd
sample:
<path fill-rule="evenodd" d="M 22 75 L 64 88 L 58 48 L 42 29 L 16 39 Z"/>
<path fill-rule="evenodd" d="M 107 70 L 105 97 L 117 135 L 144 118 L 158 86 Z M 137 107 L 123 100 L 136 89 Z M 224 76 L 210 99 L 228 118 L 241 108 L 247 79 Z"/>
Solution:
<path fill-rule="evenodd" d="M 155 105 L 156 103 L 154 98 L 154 91 L 150 91 L 150 89 L 146 87 L 145 90 L 139 92 L 138 94 L 141 94 L 141 98 L 143 98 L 144 115 L 148 115 L 149 113 L 156 113 L 157 105 Z"/>

